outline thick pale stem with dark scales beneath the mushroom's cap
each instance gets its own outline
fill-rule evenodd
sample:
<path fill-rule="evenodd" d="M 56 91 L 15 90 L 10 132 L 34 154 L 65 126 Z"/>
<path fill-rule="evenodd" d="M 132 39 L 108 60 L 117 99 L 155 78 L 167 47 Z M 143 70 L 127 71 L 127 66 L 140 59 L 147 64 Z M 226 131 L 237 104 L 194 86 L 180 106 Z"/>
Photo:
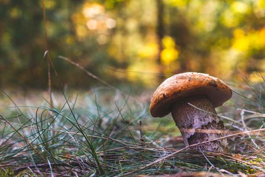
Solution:
<path fill-rule="evenodd" d="M 178 101 L 172 106 L 171 114 L 181 131 L 185 146 L 225 136 L 223 121 L 219 120 L 213 104 L 204 95 Z M 227 140 L 204 143 L 190 149 L 227 152 Z"/>

